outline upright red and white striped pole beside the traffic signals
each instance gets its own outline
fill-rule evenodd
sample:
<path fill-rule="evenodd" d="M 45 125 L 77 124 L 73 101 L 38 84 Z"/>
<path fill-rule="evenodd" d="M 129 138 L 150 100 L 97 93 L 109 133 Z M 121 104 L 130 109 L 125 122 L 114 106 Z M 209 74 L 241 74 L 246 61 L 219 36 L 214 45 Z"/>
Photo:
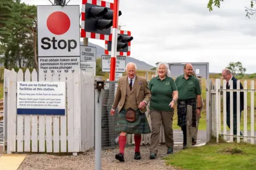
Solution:
<path fill-rule="evenodd" d="M 111 62 L 110 62 L 110 76 L 109 76 L 110 81 L 114 81 L 115 75 L 116 75 L 116 48 L 117 48 L 118 17 L 119 17 L 119 0 L 114 0 Z"/>

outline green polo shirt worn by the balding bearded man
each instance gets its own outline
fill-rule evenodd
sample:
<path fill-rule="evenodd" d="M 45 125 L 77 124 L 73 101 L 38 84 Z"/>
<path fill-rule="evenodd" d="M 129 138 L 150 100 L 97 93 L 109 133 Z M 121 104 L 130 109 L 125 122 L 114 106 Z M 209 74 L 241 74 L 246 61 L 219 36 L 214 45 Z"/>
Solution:
<path fill-rule="evenodd" d="M 178 88 L 178 100 L 196 98 L 196 95 L 201 94 L 199 80 L 195 76 L 186 79 L 183 74 L 175 79 L 175 84 Z"/>

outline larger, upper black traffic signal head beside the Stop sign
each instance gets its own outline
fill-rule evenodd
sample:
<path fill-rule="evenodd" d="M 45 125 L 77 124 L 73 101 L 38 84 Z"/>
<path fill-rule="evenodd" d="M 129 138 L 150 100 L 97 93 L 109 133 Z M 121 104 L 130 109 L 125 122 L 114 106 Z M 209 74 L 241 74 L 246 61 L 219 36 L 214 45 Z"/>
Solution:
<path fill-rule="evenodd" d="M 113 13 L 109 7 L 85 4 L 84 31 L 96 34 L 110 35 L 113 26 Z M 122 12 L 119 11 L 119 16 Z"/>

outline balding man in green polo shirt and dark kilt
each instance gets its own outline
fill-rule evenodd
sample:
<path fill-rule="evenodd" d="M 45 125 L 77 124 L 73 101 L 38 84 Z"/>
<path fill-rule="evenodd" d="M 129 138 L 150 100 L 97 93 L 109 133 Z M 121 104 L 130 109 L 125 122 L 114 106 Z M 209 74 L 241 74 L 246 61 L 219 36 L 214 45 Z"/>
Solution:
<path fill-rule="evenodd" d="M 196 116 L 200 116 L 201 110 L 201 88 L 199 80 L 193 76 L 191 64 L 185 64 L 184 74 L 175 79 L 178 88 L 178 126 L 183 131 L 183 149 L 187 145 L 186 113 L 187 105 L 192 106 L 192 127 L 196 127 Z M 191 139 L 193 141 L 193 139 Z"/>

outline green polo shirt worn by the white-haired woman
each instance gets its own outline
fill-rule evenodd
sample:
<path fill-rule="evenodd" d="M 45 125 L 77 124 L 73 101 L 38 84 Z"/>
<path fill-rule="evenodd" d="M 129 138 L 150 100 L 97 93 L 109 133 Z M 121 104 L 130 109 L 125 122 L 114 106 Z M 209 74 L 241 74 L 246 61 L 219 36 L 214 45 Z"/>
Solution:
<path fill-rule="evenodd" d="M 177 91 L 177 86 L 171 77 L 161 80 L 158 76 L 149 82 L 151 99 L 149 109 L 159 111 L 172 111 L 169 106 L 172 101 L 172 92 Z"/>

